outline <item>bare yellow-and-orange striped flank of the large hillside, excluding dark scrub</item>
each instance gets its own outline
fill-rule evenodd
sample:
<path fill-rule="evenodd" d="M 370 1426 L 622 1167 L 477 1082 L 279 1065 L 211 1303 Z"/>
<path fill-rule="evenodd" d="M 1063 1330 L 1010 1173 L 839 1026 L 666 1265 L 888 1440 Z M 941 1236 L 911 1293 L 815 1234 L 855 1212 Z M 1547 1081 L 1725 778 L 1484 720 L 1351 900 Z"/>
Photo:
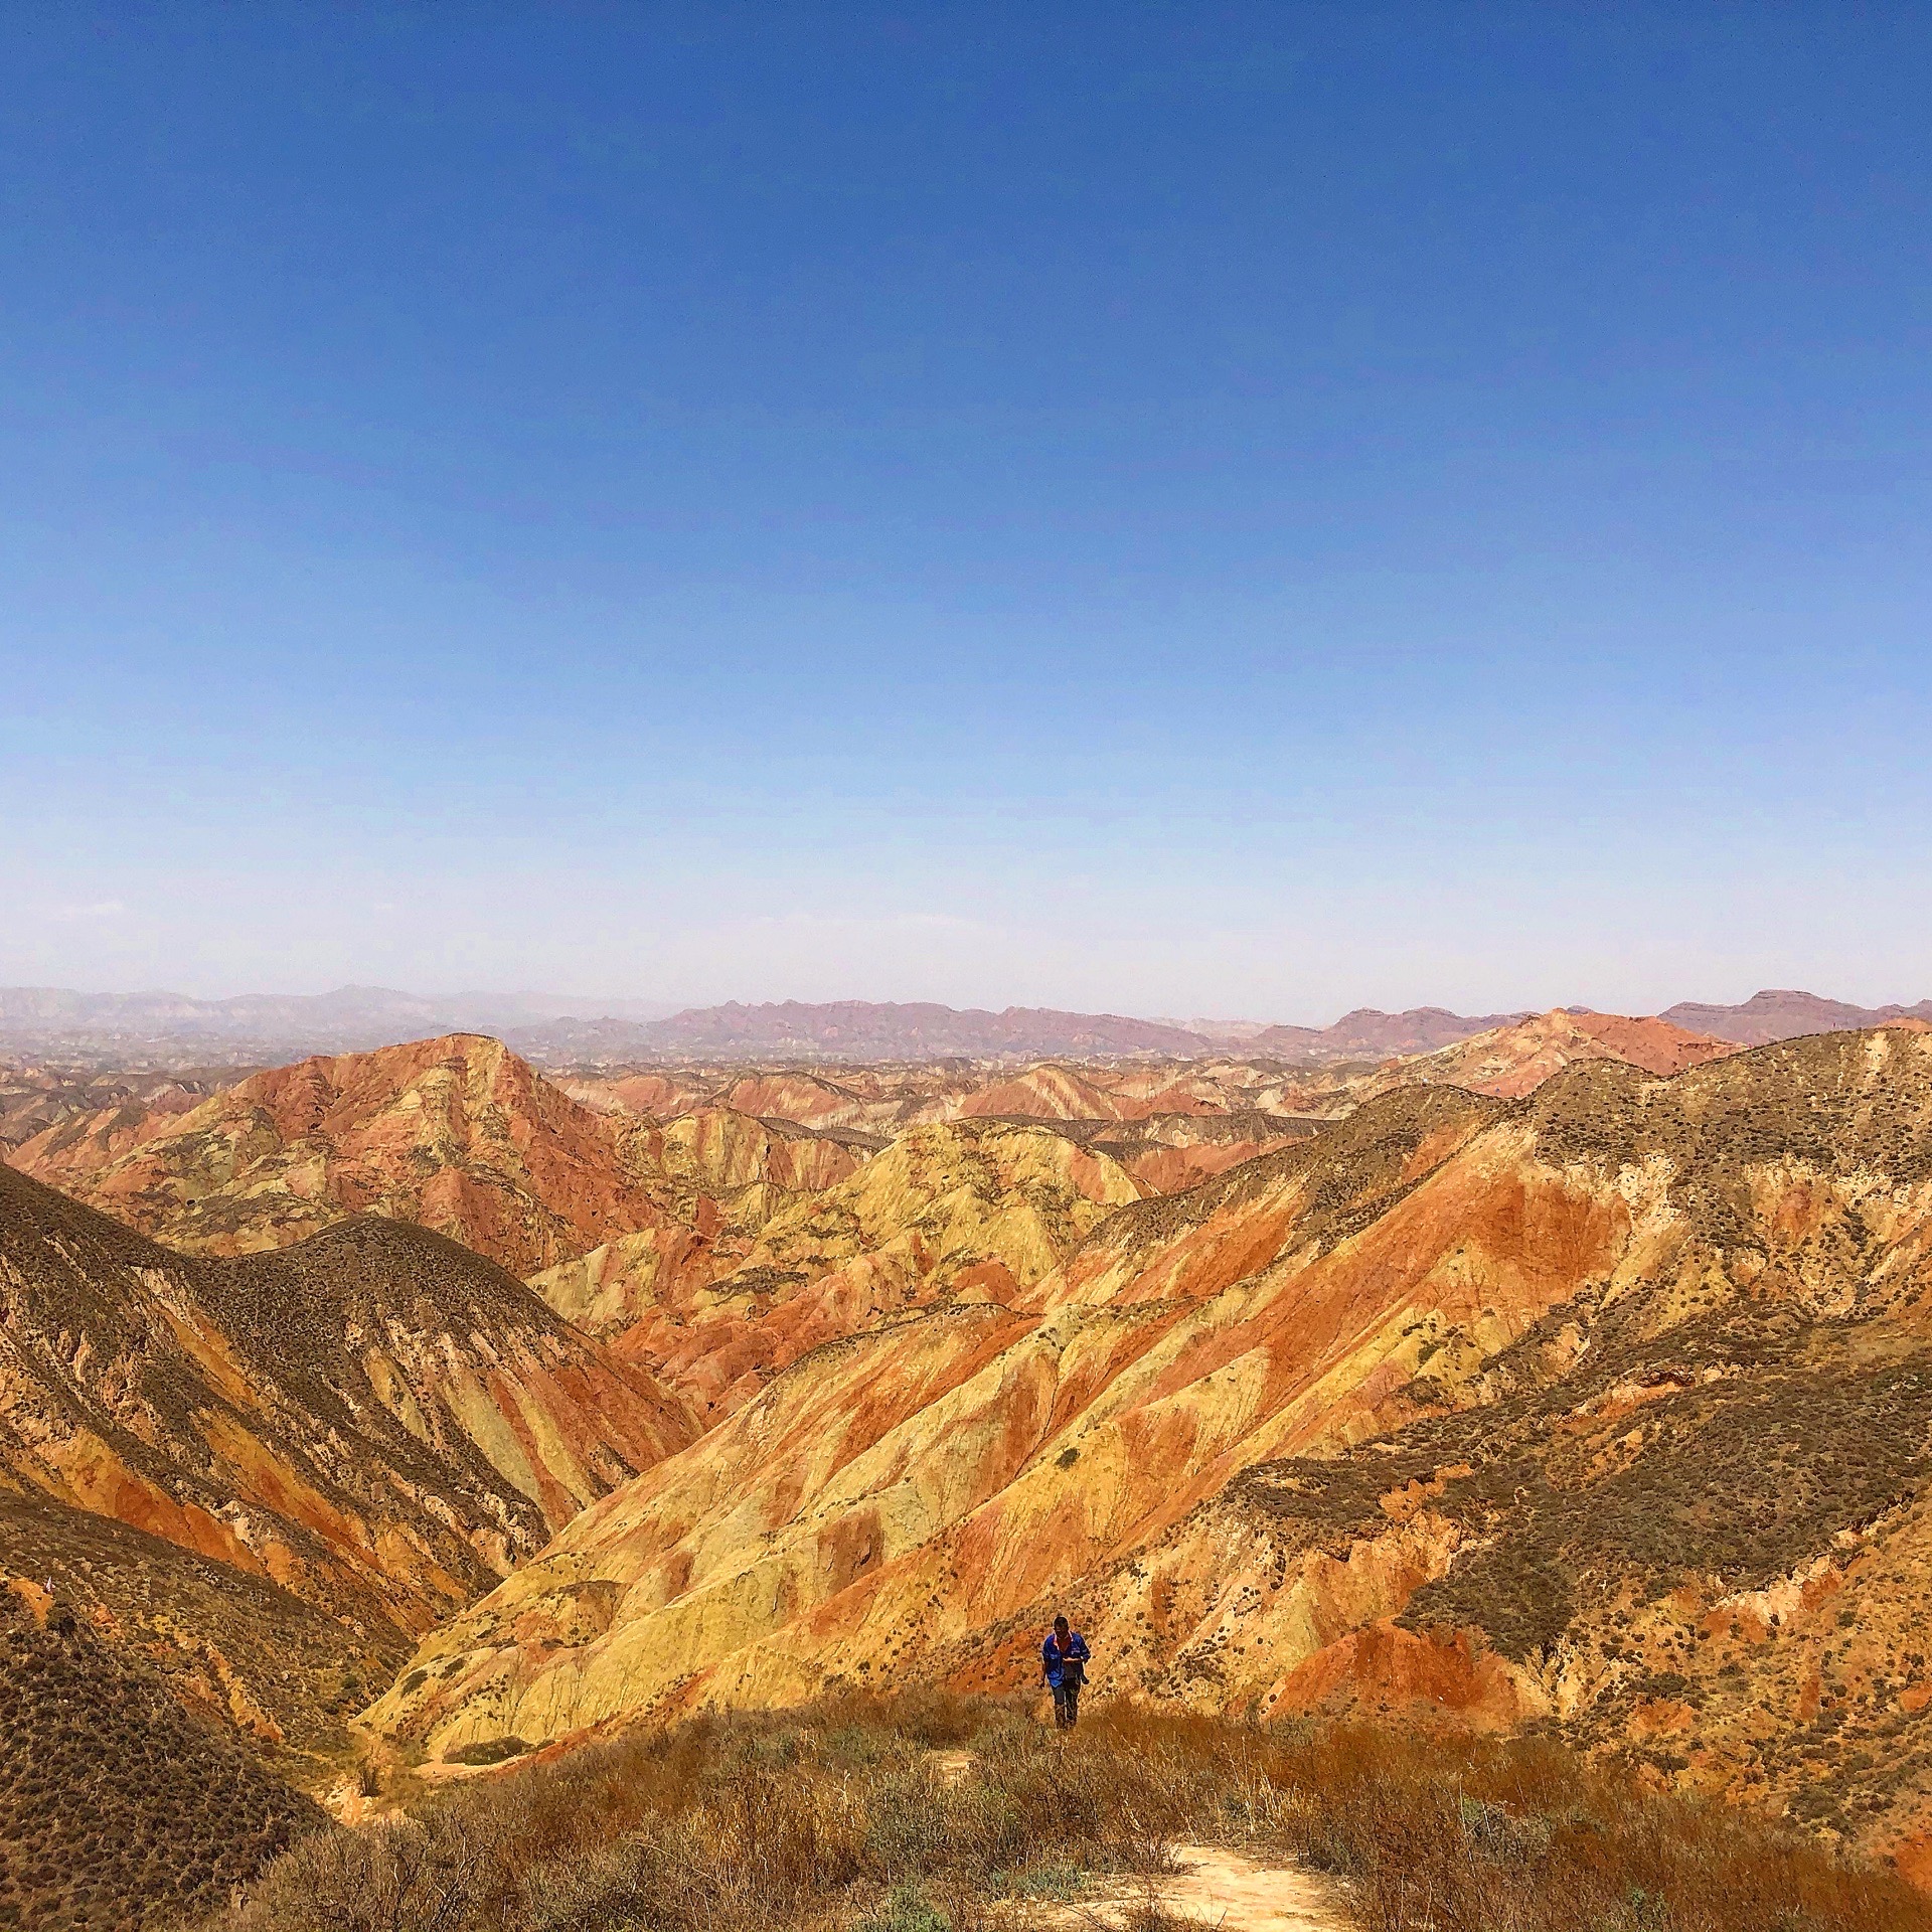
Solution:
<path fill-rule="evenodd" d="M 1291 1150 L 1130 1204 L 1065 1271 L 815 1349 L 439 1633 L 435 1690 L 419 1677 L 384 1716 L 439 1748 L 549 1737 L 724 1677 L 732 1694 L 781 1696 L 883 1669 L 906 1644 L 929 1650 L 1020 1607 L 1184 1509 L 1190 1466 L 1277 1422 L 1273 1383 L 1316 1379 L 1343 1323 L 1323 1349 L 1254 1287 L 1293 1229 L 1412 1188 L 1490 1113 L 1451 1092 L 1403 1095 L 1339 1128 L 1321 1161 Z M 1065 1146 L 1001 1130 L 1020 1134 Z M 1385 1345 L 1412 1362 L 1399 1333 Z M 1233 1362 L 1244 1368 L 1227 1376 Z M 560 1631 L 578 1642 L 556 1648 Z"/>

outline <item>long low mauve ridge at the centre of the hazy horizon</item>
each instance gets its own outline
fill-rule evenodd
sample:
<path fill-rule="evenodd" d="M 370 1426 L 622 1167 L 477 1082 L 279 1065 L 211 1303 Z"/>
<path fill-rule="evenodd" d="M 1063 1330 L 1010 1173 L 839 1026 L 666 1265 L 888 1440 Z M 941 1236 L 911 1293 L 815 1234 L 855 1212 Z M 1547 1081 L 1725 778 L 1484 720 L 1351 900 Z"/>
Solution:
<path fill-rule="evenodd" d="M 796 1055 L 800 1059 L 925 1061 L 958 1055 L 1034 1059 L 1082 1053 L 1206 1053 L 1200 1034 L 1161 1020 L 1117 1012 L 1055 1012 L 1051 1007 L 1007 1007 L 983 1012 L 929 1003 L 896 1005 L 840 999 L 806 1005 L 694 1007 L 670 1020 L 638 1028 L 659 1051 L 696 1057 Z"/>

